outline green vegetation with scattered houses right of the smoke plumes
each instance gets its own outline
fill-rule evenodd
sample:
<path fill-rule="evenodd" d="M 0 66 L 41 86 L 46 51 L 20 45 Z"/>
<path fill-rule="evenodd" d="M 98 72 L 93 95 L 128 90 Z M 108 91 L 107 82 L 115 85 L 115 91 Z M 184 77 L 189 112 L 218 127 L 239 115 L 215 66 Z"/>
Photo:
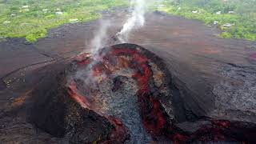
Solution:
<path fill-rule="evenodd" d="M 158 10 L 168 14 L 198 19 L 209 25 L 218 22 L 216 25 L 223 30 L 221 38 L 256 41 L 256 0 L 166 0 L 161 3 Z M 232 26 L 223 26 L 225 24 Z"/>

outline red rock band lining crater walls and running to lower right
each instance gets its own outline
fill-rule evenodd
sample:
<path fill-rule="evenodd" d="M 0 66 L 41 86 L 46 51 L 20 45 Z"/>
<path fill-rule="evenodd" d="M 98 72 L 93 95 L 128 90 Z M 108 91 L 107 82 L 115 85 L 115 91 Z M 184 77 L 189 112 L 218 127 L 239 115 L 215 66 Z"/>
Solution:
<path fill-rule="evenodd" d="M 150 87 L 150 78 L 153 77 L 151 67 L 149 66 L 150 60 L 142 54 L 140 49 L 130 49 L 126 46 L 129 45 L 118 46 L 118 48 L 113 46 L 106 52 L 106 54 L 102 54 L 102 61 L 94 63 L 92 73 L 93 76 L 97 78 L 102 74 L 106 74 L 106 77 L 110 77 L 111 74 L 116 73 L 118 70 L 126 68 L 135 70 L 135 73 L 132 74 L 131 78 L 134 78 L 138 84 L 137 96 L 142 124 L 153 140 L 158 139 L 160 136 L 165 136 L 174 143 L 249 142 L 250 139 L 256 136 L 255 130 L 250 132 L 250 130 L 247 130 L 246 128 L 244 129 L 242 123 L 229 122 L 226 120 L 210 120 L 210 125 L 202 126 L 193 134 L 186 134 L 178 130 L 177 127 L 174 126 L 174 123 L 170 122 L 169 116 L 166 114 L 165 109 L 162 107 L 162 103 L 159 101 L 159 96 L 156 97 L 152 95 L 152 92 L 150 91 L 152 89 L 152 87 Z M 122 58 L 124 56 L 126 58 Z M 78 66 L 84 67 L 90 65 L 90 62 L 93 61 L 94 60 L 90 58 L 88 54 L 85 54 L 85 56 L 79 56 L 76 63 Z M 104 78 L 100 81 L 104 81 Z M 72 92 L 70 95 L 84 108 L 94 110 L 101 114 L 101 110 L 98 110 L 97 105 L 94 105 L 93 102 L 93 104 L 91 104 L 90 99 L 88 100 L 85 95 L 76 93 L 78 89 L 75 85 L 77 84 L 78 83 L 74 82 L 74 80 L 71 81 L 70 90 Z M 170 96 L 171 95 L 169 95 L 169 97 Z M 111 138 L 118 138 L 118 136 L 124 135 L 122 133 L 125 130 L 123 130 L 123 124 L 120 119 L 108 115 L 105 115 L 105 117 L 110 119 L 110 121 L 114 122 L 115 126 L 117 126 L 117 129 L 114 131 Z M 236 137 L 236 133 L 241 135 Z"/>

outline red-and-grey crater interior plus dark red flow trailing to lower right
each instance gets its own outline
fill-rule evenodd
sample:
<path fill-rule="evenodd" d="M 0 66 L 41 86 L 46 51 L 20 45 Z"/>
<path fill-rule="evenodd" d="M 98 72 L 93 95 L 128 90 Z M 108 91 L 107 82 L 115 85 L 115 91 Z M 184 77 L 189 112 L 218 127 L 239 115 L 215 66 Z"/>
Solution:
<path fill-rule="evenodd" d="M 111 46 L 99 51 L 97 58 L 83 54 L 72 67 L 70 96 L 114 123 L 110 139 L 126 135 L 125 127 L 131 143 L 250 142 L 255 136 L 255 130 L 244 128 L 246 123 L 210 118 L 210 124 L 192 134 L 178 129 L 170 73 L 160 58 L 141 46 Z"/>

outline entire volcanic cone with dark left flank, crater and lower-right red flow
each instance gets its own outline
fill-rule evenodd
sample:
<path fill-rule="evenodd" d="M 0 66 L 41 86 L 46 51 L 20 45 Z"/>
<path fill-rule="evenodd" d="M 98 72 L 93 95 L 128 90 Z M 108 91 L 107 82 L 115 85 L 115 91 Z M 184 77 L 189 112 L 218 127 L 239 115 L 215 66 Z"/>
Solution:
<path fill-rule="evenodd" d="M 180 91 L 162 59 L 141 46 L 110 46 L 55 66 L 58 73 L 33 92 L 30 122 L 64 141 L 254 142 L 252 123 L 207 117 L 178 123 Z"/>

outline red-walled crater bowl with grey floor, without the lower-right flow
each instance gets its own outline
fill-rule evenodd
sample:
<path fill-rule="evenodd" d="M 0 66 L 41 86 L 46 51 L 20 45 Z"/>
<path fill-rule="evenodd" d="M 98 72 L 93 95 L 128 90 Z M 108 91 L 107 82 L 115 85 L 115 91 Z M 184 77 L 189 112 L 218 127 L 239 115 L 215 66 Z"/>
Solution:
<path fill-rule="evenodd" d="M 94 57 L 78 57 L 70 68 L 68 86 L 83 107 L 120 119 L 129 129 L 130 141 L 145 143 L 152 141 L 150 134 L 162 134 L 170 123 L 166 118 L 173 117 L 167 74 L 156 55 L 123 44 Z"/>

